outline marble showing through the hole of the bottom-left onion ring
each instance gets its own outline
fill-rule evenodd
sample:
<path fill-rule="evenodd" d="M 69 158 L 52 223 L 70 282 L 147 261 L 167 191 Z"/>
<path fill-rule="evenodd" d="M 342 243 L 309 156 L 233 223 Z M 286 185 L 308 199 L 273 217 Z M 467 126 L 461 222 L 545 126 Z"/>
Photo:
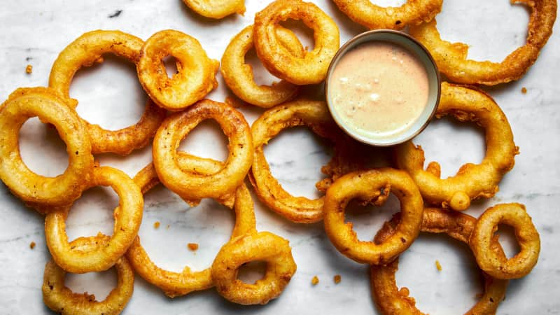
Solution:
<path fill-rule="evenodd" d="M 67 273 L 64 276 L 64 284 L 74 293 L 87 292 L 95 295 L 95 300 L 103 301 L 118 285 L 117 279 L 115 268 L 111 268 L 104 272 Z"/>

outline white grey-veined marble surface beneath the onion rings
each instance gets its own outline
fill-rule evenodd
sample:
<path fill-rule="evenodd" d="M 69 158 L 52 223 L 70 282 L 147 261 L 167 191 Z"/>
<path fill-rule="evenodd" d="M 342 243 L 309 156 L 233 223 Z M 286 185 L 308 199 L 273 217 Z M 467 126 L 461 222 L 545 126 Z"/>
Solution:
<path fill-rule="evenodd" d="M 255 12 L 269 1 L 246 0 L 244 17 L 232 16 L 211 21 L 192 13 L 180 0 L 113 1 L 3 1 L 0 10 L 0 96 L 20 86 L 46 85 L 50 66 L 74 38 L 92 29 L 121 29 L 148 38 L 161 29 L 179 29 L 198 38 L 208 55 L 220 59 L 230 38 L 251 24 Z M 314 1 L 339 25 L 342 42 L 364 29 L 340 13 L 330 0 Z M 400 1 L 381 1 L 398 5 Z M 528 12 L 509 1 L 446 0 L 438 15 L 442 36 L 471 45 L 470 57 L 500 60 L 524 42 Z M 297 29 L 304 43 L 310 44 L 309 31 Z M 542 50 L 538 62 L 521 80 L 486 89 L 506 113 L 521 148 L 516 165 L 500 184 L 500 192 L 490 200 L 475 202 L 469 214 L 478 216 L 499 202 L 526 204 L 540 231 L 542 251 L 533 272 L 511 281 L 499 314 L 560 313 L 560 258 L 557 243 L 560 204 L 560 29 Z M 257 79 L 269 83 L 272 78 L 249 55 Z M 32 64 L 33 73 L 25 66 Z M 209 97 L 223 100 L 228 90 L 221 86 Z M 521 94 L 526 87 L 527 94 Z M 118 129 L 134 123 L 143 111 L 145 95 L 137 82 L 134 67 L 117 58 L 92 69 L 78 72 L 71 95 L 80 101 L 78 113 L 103 127 Z M 249 123 L 262 112 L 241 109 Z M 0 126 L 1 127 L 1 126 Z M 49 176 L 66 167 L 64 144 L 53 130 L 32 119 L 21 136 L 22 156 L 36 172 Z M 464 162 L 479 162 L 484 154 L 484 136 L 470 125 L 443 120 L 431 124 L 416 142 L 426 149 L 426 158 L 442 164 L 443 175 L 456 172 Z M 181 148 L 202 156 L 223 159 L 226 140 L 214 123 L 204 123 L 183 141 Z M 303 129 L 283 132 L 265 150 L 272 172 L 291 193 L 314 196 L 314 183 L 321 178 L 319 168 L 329 158 L 323 142 Z M 151 148 L 135 151 L 125 158 L 99 155 L 102 165 L 118 167 L 134 176 L 151 161 Z M 254 195 L 253 195 L 254 198 Z M 111 190 L 88 190 L 76 202 L 67 221 L 71 239 L 111 234 L 111 209 L 118 198 Z M 349 215 L 362 239 L 370 239 L 381 223 L 395 211 L 395 200 L 377 211 L 361 210 Z M 241 307 L 225 301 L 215 290 L 192 293 L 171 300 L 160 290 L 137 277 L 134 295 L 125 314 L 377 314 L 370 297 L 368 268 L 340 255 L 330 244 L 321 223 L 288 223 L 255 198 L 258 230 L 268 230 L 290 240 L 297 272 L 277 300 L 266 306 Z M 160 221 L 158 230 L 153 223 Z M 144 221 L 139 235 L 146 250 L 160 266 L 179 271 L 184 265 L 202 269 L 211 264 L 219 247 L 228 239 L 234 218 L 227 209 L 211 200 L 190 209 L 165 188 L 146 195 Z M 500 230 L 508 253 L 516 248 L 511 231 Z M 36 242 L 31 250 L 29 244 Z M 196 242 L 200 249 L 189 251 L 186 244 Z M 43 305 L 41 283 L 43 266 L 50 258 L 45 246 L 43 218 L 26 209 L 22 202 L 0 184 L 0 314 L 50 314 Z M 443 267 L 435 268 L 435 260 Z M 258 266 L 242 275 L 255 279 Z M 335 285 L 332 277 L 342 275 Z M 320 283 L 311 286 L 312 276 Z M 422 235 L 400 261 L 399 286 L 410 288 L 417 305 L 430 314 L 461 314 L 472 305 L 482 288 L 475 262 L 465 246 L 442 236 Z M 76 292 L 95 293 L 102 299 L 116 284 L 113 271 L 66 276 L 66 284 Z"/>

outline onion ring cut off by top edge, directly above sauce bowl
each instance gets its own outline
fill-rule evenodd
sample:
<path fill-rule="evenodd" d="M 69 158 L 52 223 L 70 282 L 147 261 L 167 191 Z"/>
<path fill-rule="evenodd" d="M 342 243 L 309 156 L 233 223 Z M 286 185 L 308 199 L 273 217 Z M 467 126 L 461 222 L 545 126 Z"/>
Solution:
<path fill-rule="evenodd" d="M 429 22 L 442 10 L 443 0 L 408 0 L 399 7 L 382 7 L 370 0 L 332 0 L 342 13 L 368 29 L 402 29 Z"/>

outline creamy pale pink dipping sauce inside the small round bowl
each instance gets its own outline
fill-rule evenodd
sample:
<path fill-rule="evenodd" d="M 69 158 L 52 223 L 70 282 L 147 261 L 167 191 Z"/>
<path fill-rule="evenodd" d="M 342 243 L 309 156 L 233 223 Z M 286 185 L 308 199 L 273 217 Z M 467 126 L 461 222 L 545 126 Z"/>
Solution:
<path fill-rule="evenodd" d="M 329 81 L 339 120 L 365 137 L 395 137 L 408 130 L 426 108 L 428 91 L 428 73 L 419 59 L 387 42 L 346 52 Z"/>

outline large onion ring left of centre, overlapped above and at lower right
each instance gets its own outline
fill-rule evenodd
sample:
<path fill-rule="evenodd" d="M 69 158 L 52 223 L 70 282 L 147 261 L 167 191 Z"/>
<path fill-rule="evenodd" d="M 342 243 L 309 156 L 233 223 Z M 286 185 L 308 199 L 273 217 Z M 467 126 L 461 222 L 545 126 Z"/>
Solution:
<path fill-rule="evenodd" d="M 212 172 L 217 172 L 222 167 L 220 162 L 202 158 L 198 158 L 196 163 L 189 163 L 188 159 L 181 159 L 181 157 L 179 157 L 178 161 L 182 164 L 181 167 L 185 169 L 192 169 L 193 164 L 196 164 L 197 171 L 201 174 L 211 174 Z M 143 193 L 157 185 L 159 181 L 153 164 L 144 167 L 137 176 L 134 176 L 134 181 Z M 234 197 L 235 204 L 229 206 L 235 210 L 235 227 L 231 237 L 234 238 L 239 235 L 256 232 L 253 200 L 251 200 L 251 194 L 245 184 L 241 184 L 237 188 Z M 185 267 L 183 272 L 169 272 L 158 267 L 140 244 L 140 237 L 137 237 L 128 249 L 127 258 L 130 260 L 132 267 L 134 267 L 134 271 L 149 283 L 162 289 L 165 295 L 169 297 L 186 295 L 195 290 L 204 290 L 214 286 L 210 268 L 193 272 L 189 267 Z"/>

